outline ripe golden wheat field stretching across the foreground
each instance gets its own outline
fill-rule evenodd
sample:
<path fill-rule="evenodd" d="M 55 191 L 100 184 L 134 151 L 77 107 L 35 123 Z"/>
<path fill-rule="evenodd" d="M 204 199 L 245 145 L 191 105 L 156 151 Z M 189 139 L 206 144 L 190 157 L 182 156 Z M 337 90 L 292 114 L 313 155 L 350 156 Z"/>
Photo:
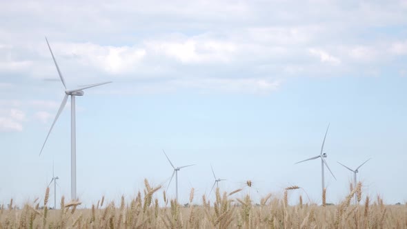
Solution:
<path fill-rule="evenodd" d="M 36 199 L 21 209 L 13 206 L 12 199 L 6 208 L 2 205 L 0 228 L 407 228 L 406 204 L 385 205 L 380 197 L 362 199 L 361 186 L 358 183 L 336 206 L 325 203 L 326 190 L 321 206 L 304 204 L 301 196 L 296 205 L 288 205 L 290 192 L 298 186 L 286 188 L 282 198 L 266 195 L 260 203 L 253 203 L 250 195 L 235 197 L 241 189 L 221 192 L 219 188 L 210 203 L 205 195 L 195 197 L 192 188 L 190 204 L 181 206 L 168 199 L 161 186 L 151 187 L 145 180 L 143 194 L 138 192 L 128 202 L 121 197 L 120 206 L 102 197 L 91 209 L 79 209 L 80 201 L 65 203 L 62 197 L 57 210 L 48 208 L 47 188 L 41 202 Z M 201 204 L 192 204 L 195 198 Z"/>

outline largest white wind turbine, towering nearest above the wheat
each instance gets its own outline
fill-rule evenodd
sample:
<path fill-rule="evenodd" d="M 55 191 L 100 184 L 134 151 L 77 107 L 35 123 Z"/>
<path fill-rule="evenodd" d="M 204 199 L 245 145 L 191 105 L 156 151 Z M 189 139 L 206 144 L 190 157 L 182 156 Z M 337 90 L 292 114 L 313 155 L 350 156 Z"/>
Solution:
<path fill-rule="evenodd" d="M 43 146 L 41 148 L 41 152 L 46 145 L 47 139 L 50 136 L 51 130 L 54 127 L 54 124 L 57 122 L 57 119 L 59 115 L 61 115 L 61 112 L 63 108 L 65 108 L 66 101 L 68 100 L 68 96 L 70 96 L 70 195 L 73 200 L 77 199 L 77 138 L 76 138 L 76 130 L 75 130 L 75 97 L 77 96 L 83 96 L 84 92 L 83 90 L 87 88 L 93 88 L 96 86 L 101 86 L 106 83 L 111 83 L 109 82 L 103 82 L 103 83 L 95 83 L 95 84 L 90 84 L 87 86 L 82 86 L 80 88 L 75 88 L 72 90 L 68 90 L 66 88 L 65 80 L 62 77 L 61 70 L 59 70 L 59 66 L 57 61 L 55 60 L 54 54 L 52 53 L 50 43 L 48 43 L 48 39 L 46 38 L 48 48 L 50 49 L 52 59 L 54 60 L 55 67 L 57 67 L 57 71 L 59 74 L 59 78 L 61 79 L 61 82 L 63 84 L 63 87 L 65 88 L 65 97 L 62 99 L 61 106 L 59 107 L 59 110 L 57 112 L 57 115 L 55 116 L 54 122 L 51 125 L 50 131 L 48 132 L 48 135 L 46 137 L 46 141 L 44 141 Z M 41 152 L 39 152 L 39 155 L 41 155 Z"/>

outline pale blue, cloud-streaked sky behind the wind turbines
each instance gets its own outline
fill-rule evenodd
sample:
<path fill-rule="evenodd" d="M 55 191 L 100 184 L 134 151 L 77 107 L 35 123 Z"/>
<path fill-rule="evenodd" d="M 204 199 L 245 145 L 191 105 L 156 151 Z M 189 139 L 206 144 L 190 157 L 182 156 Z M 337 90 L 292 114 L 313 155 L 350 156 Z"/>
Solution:
<path fill-rule="evenodd" d="M 407 1 L 0 1 L 0 203 L 70 197 L 70 102 L 77 97 L 77 195 L 134 197 L 146 178 L 179 201 L 214 183 L 338 203 L 359 170 L 365 195 L 407 201 Z M 161 199 L 161 190 L 159 191 Z M 51 198 L 53 198 L 51 188 Z M 168 188 L 175 197 L 175 181 Z M 213 198 L 213 193 L 211 197 Z"/>

